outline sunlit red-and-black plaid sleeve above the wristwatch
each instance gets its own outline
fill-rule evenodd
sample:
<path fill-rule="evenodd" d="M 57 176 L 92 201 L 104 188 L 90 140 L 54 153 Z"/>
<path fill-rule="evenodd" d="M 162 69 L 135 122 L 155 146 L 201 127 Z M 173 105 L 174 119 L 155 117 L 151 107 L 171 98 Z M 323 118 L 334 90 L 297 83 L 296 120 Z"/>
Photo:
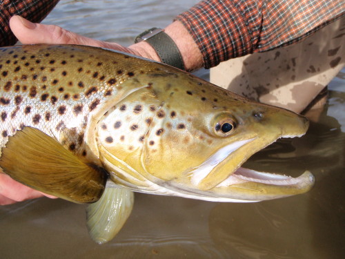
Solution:
<path fill-rule="evenodd" d="M 345 14 L 344 0 L 204 0 L 181 21 L 204 67 L 293 44 Z"/>

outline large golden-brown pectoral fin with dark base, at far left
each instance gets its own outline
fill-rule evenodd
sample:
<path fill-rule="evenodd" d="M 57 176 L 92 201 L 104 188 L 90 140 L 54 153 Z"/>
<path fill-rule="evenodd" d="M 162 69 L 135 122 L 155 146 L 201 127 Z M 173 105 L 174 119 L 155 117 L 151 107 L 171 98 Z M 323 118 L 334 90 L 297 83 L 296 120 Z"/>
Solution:
<path fill-rule="evenodd" d="M 1 153 L 5 173 L 43 193 L 77 203 L 96 202 L 103 193 L 106 173 L 37 128 L 17 131 Z"/>

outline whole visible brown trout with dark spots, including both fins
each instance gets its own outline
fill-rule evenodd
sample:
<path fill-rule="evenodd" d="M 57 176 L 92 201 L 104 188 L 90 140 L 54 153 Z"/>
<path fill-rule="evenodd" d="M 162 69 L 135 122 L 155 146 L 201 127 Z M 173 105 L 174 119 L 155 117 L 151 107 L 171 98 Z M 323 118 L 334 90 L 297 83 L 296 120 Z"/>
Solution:
<path fill-rule="evenodd" d="M 106 242 L 132 191 L 219 202 L 304 193 L 314 178 L 240 167 L 308 121 L 184 71 L 71 45 L 0 48 L 0 166 L 14 180 L 88 207 Z"/>

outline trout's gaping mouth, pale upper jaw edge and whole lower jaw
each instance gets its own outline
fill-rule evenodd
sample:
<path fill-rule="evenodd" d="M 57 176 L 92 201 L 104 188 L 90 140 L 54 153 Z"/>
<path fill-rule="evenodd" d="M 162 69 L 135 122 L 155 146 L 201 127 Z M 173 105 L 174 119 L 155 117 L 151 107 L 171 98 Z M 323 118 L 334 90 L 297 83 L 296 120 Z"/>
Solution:
<path fill-rule="evenodd" d="M 288 135 L 284 137 L 300 136 Z M 275 140 L 270 140 L 268 144 L 275 142 Z M 288 175 L 259 172 L 240 167 L 251 155 L 268 145 L 259 148 L 258 141 L 259 138 L 254 137 L 228 144 L 189 173 L 190 182 L 195 191 L 199 195 L 204 193 L 204 198 L 201 200 L 256 202 L 305 193 L 312 188 L 315 178 L 309 171 L 293 178 Z M 244 153 L 245 155 L 243 155 Z M 239 157 L 241 155 L 242 157 Z M 233 164 L 236 164 L 237 167 L 233 167 L 232 162 L 234 158 L 237 159 L 238 157 L 241 162 L 235 161 Z M 221 174 L 223 177 L 216 179 Z M 203 182 L 208 182 L 210 187 L 207 189 L 200 187 Z"/>

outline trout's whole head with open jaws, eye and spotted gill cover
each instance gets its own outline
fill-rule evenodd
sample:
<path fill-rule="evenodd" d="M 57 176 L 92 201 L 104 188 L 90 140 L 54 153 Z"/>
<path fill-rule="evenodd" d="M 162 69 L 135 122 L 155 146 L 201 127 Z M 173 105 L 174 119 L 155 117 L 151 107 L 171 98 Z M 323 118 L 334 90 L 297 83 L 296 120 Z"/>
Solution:
<path fill-rule="evenodd" d="M 313 185 L 311 173 L 290 178 L 240 167 L 279 137 L 304 135 L 306 118 L 185 73 L 145 76 L 152 83 L 128 93 L 98 124 L 101 160 L 115 182 L 215 201 L 269 200 Z"/>

